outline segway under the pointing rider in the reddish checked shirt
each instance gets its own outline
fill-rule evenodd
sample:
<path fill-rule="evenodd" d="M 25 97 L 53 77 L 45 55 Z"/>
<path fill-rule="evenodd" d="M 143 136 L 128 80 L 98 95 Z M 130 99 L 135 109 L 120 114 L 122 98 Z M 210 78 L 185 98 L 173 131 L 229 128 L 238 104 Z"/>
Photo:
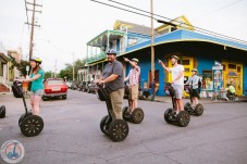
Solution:
<path fill-rule="evenodd" d="M 125 121 L 135 123 L 135 124 L 140 124 L 144 121 L 144 111 L 140 108 L 136 108 L 132 114 L 128 113 L 128 111 L 131 111 L 131 90 L 128 88 L 128 86 L 125 86 L 124 88 L 124 94 L 127 96 L 127 101 L 128 101 L 128 106 L 124 106 L 123 108 L 123 118 Z"/>

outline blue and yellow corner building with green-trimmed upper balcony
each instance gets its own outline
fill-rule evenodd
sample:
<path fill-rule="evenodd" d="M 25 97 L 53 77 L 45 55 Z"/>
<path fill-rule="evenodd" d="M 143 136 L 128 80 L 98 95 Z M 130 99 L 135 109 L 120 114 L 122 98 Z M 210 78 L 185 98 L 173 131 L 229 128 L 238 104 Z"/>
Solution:
<path fill-rule="evenodd" d="M 247 94 L 247 45 L 229 37 L 208 35 L 195 31 L 185 16 L 171 21 L 174 25 L 161 25 L 155 29 L 155 78 L 159 81 L 157 94 L 164 96 L 163 87 L 171 81 L 171 75 L 164 73 L 158 59 L 172 66 L 169 58 L 180 56 L 180 63 L 185 67 L 185 80 L 190 76 L 192 68 L 197 68 L 202 76 L 203 90 L 225 88 L 232 83 L 238 96 Z M 139 59 L 141 67 L 141 87 L 150 86 L 151 81 L 151 29 L 123 21 L 116 21 L 113 30 L 106 30 L 87 42 L 88 73 L 91 70 L 103 70 L 107 63 L 106 50 L 115 49 L 118 59 L 122 61 L 125 75 L 129 65 L 123 62 L 123 56 Z M 212 70 L 215 63 L 222 65 L 222 71 Z M 219 73 L 220 72 L 220 73 Z"/>

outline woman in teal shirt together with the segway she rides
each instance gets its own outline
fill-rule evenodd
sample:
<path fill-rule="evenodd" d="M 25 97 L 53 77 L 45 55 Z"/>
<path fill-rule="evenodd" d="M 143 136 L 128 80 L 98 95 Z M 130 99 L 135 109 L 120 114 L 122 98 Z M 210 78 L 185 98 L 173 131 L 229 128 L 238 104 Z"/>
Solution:
<path fill-rule="evenodd" d="M 40 67 L 40 64 L 42 63 L 41 59 L 32 58 L 29 61 L 30 61 L 30 67 L 32 67 L 30 76 L 27 76 L 26 79 L 16 79 L 12 86 L 12 89 L 13 91 L 18 92 L 20 97 L 23 98 L 23 102 L 26 111 L 18 119 L 18 126 L 21 127 L 21 131 L 27 137 L 33 137 L 41 133 L 44 128 L 44 121 L 39 116 L 39 112 L 40 112 L 39 108 L 40 108 L 41 96 L 44 92 L 42 80 L 44 80 L 45 73 Z M 22 83 L 32 81 L 30 112 L 27 111 L 23 90 L 21 88 L 21 84 L 18 84 L 20 81 Z"/>

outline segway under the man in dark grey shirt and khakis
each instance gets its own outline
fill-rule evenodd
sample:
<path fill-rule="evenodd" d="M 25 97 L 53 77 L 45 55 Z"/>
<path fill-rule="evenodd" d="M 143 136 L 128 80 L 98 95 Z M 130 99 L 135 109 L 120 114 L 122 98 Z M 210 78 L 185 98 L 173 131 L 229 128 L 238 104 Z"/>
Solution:
<path fill-rule="evenodd" d="M 106 101 L 108 115 L 103 116 L 100 122 L 100 129 L 103 134 L 109 136 L 109 138 L 115 142 L 123 141 L 128 135 L 128 125 L 124 119 L 112 121 L 112 104 L 109 93 L 102 85 L 97 84 L 98 90 L 96 96 L 100 101 Z"/>

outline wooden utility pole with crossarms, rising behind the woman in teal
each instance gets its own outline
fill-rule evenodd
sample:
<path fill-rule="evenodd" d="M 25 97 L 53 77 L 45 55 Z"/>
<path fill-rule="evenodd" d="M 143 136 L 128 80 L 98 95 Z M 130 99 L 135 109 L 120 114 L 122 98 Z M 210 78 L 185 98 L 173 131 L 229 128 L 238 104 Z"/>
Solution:
<path fill-rule="evenodd" d="M 35 26 L 40 27 L 40 25 L 35 24 L 35 12 L 41 13 L 41 11 L 37 11 L 36 10 L 36 7 L 42 7 L 42 5 L 36 4 L 36 0 L 34 0 L 33 3 L 26 2 L 26 0 L 25 0 L 25 4 L 33 5 L 33 10 L 26 8 L 27 11 L 32 11 L 33 12 L 33 14 L 32 14 L 32 23 L 30 24 L 28 22 L 26 23 L 27 25 L 32 26 L 32 28 L 30 28 L 30 43 L 29 43 L 29 60 L 30 60 L 32 56 L 33 56 L 33 48 L 34 48 L 34 29 L 35 29 L 34 27 Z"/>

